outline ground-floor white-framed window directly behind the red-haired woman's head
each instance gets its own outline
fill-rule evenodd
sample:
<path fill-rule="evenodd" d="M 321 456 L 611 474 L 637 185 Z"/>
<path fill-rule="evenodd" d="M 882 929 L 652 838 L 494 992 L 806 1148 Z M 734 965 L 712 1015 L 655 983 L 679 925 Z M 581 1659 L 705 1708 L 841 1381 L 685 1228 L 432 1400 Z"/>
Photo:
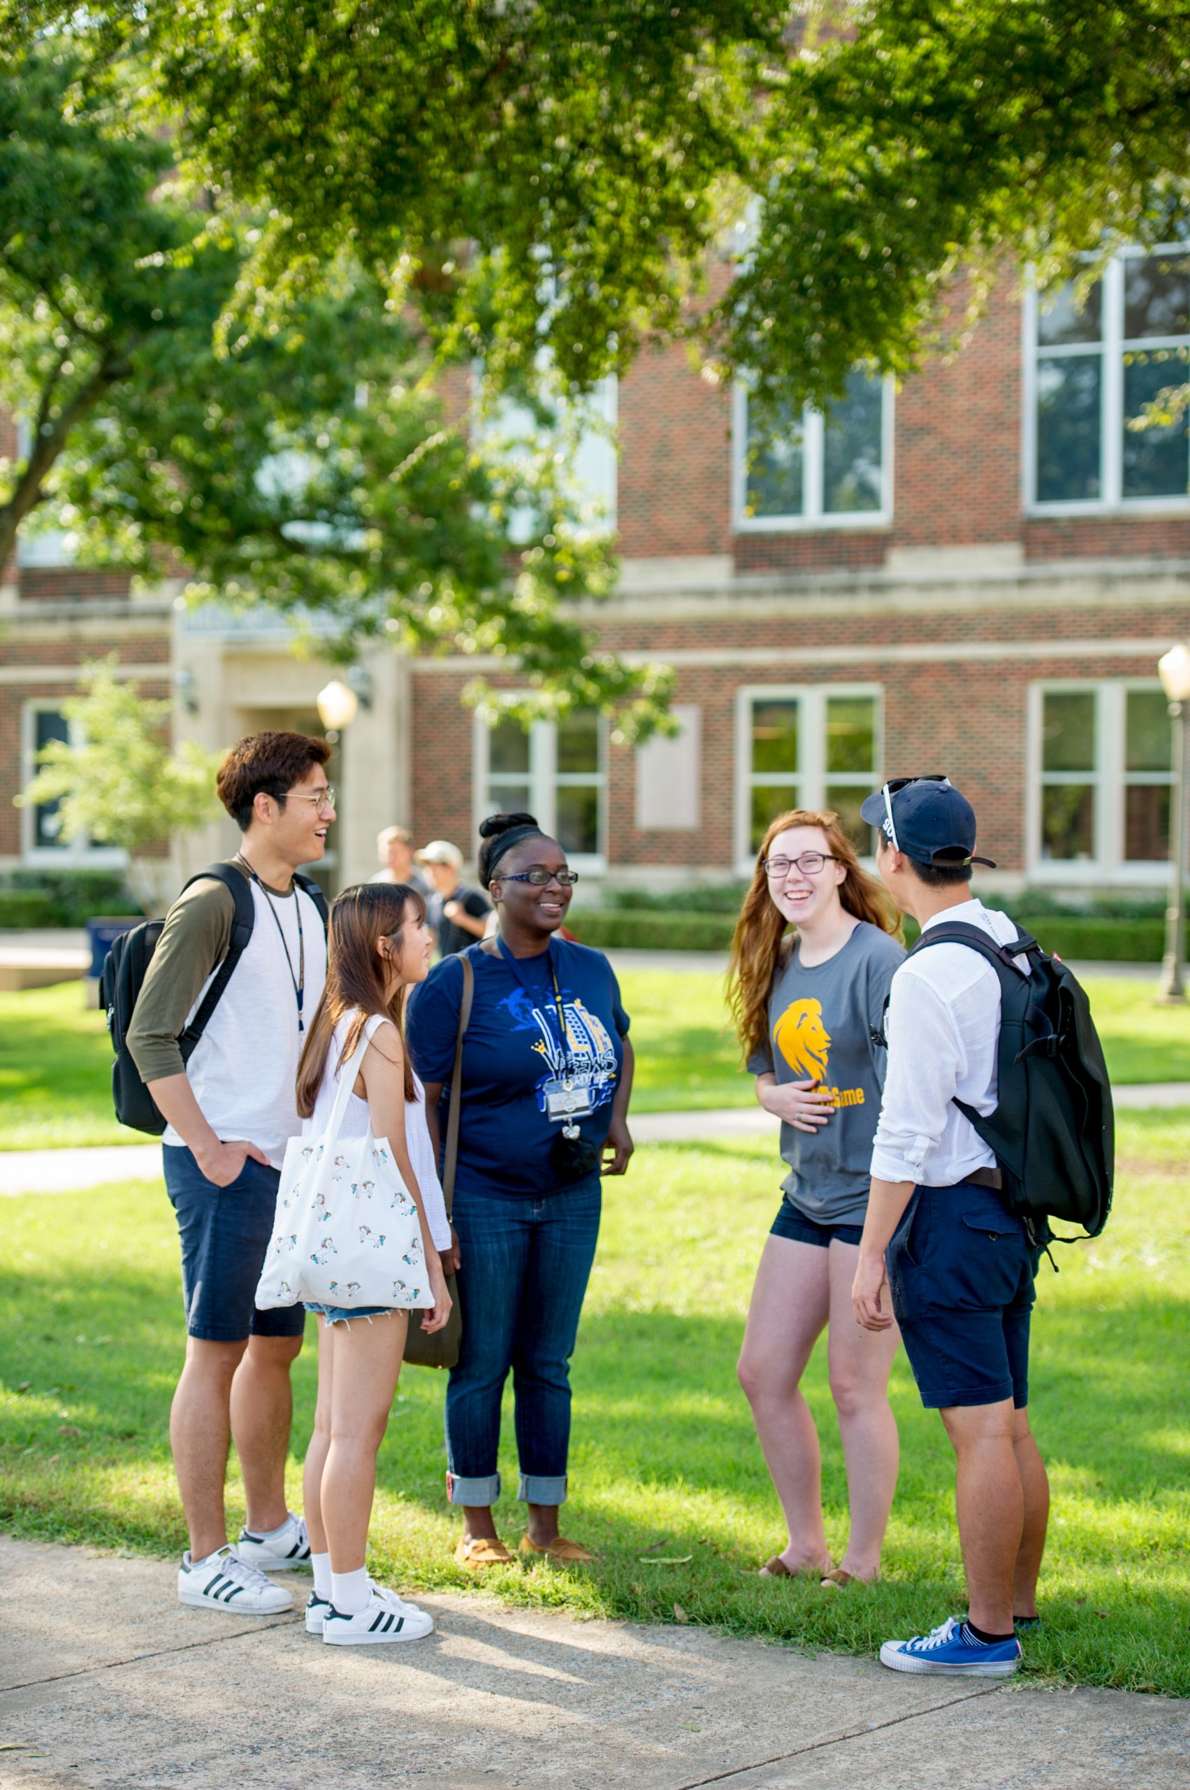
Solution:
<path fill-rule="evenodd" d="M 748 874 L 769 822 L 789 807 L 832 807 L 866 857 L 859 806 L 884 757 L 873 684 L 748 684 L 735 693 L 735 861 Z"/>

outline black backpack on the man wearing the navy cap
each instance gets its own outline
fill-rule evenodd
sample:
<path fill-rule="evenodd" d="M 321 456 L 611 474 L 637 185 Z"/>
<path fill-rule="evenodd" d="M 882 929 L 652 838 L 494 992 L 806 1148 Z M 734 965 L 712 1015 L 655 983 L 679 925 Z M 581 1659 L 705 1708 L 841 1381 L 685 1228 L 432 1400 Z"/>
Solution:
<path fill-rule="evenodd" d="M 1027 933 L 1000 945 L 977 925 L 931 925 L 909 956 L 931 945 L 968 945 L 1000 977 L 997 1108 L 982 1119 L 954 1104 L 995 1153 L 1009 1210 L 1038 1237 L 1049 1219 L 1097 1237 L 1111 1210 L 1115 1119 L 1086 990 Z M 1027 958 L 1029 974 L 1013 958 Z"/>

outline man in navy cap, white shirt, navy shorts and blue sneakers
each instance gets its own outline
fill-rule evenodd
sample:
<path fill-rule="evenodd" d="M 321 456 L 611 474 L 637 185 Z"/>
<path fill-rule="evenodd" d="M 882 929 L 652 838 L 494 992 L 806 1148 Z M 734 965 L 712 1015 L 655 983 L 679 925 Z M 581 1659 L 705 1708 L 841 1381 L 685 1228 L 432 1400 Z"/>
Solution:
<path fill-rule="evenodd" d="M 975 813 L 945 777 L 897 777 L 861 809 L 877 827 L 877 870 L 922 925 L 1016 938 L 1007 915 L 970 893 Z M 1016 959 L 1027 968 L 1024 959 Z M 956 1101 L 997 1106 L 1000 983 L 977 950 L 934 945 L 897 970 L 886 1020 L 888 1074 L 871 1192 L 852 1287 L 855 1317 L 893 1316 L 922 1403 L 941 1412 L 957 1459 L 968 1615 L 886 1641 L 897 1672 L 1006 1677 L 1016 1631 L 1038 1625 L 1036 1582 L 1049 1480 L 1029 1430 L 1029 1317 L 1036 1248 L 1000 1198 L 1000 1171 Z"/>

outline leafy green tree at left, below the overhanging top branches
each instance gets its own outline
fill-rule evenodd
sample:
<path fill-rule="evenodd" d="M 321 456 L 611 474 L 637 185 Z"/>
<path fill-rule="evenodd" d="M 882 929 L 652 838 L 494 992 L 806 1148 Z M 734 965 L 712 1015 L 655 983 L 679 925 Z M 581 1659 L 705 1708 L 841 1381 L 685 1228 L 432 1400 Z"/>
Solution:
<path fill-rule="evenodd" d="M 47 50 L 0 84 L 0 562 L 38 516 L 84 551 L 361 635 L 515 657 L 544 700 L 657 718 L 664 677 L 591 650 L 557 600 L 612 562 L 549 431 L 497 453 L 451 426 L 429 356 L 349 252 L 220 353 L 258 229 L 166 183 L 157 134 Z M 512 526 L 515 523 L 515 528 Z M 512 539 L 515 535 L 515 541 Z"/>

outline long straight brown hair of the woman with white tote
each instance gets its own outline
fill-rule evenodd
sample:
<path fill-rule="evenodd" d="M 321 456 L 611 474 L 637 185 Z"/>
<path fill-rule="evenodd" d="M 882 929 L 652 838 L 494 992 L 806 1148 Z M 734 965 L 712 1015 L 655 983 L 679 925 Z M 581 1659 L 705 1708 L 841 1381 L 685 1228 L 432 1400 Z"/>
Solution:
<path fill-rule="evenodd" d="M 297 1065 L 297 1112 L 302 1119 L 313 1113 L 331 1036 L 345 1013 L 356 1013 L 356 1019 L 347 1027 L 340 1061 L 345 1063 L 354 1051 L 367 1020 L 383 1013 L 401 1036 L 404 1097 L 417 1097 L 410 1053 L 404 1049 L 404 988 L 397 988 L 394 995 L 385 993 L 385 963 L 376 950 L 381 938 L 390 938 L 401 950 L 401 929 L 410 920 L 410 908 L 419 920 L 426 918 L 426 902 L 404 882 L 360 882 L 335 897 L 327 927 L 326 988 Z"/>

